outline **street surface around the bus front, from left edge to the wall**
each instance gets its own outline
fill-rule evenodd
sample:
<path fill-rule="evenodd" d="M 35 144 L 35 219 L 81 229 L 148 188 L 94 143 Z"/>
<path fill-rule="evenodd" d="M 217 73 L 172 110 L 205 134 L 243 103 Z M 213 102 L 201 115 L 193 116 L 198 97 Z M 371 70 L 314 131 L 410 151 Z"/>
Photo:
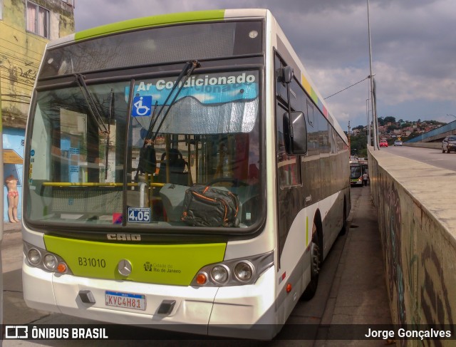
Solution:
<path fill-rule="evenodd" d="M 353 188 L 352 210 L 348 217 L 350 229 L 338 237 L 321 268 L 318 291 L 311 301 L 299 301 L 286 326 L 273 341 L 237 341 L 205 336 L 143 329 L 148 341 L 3 341 L 3 346 L 380 346 L 385 341 L 337 341 L 333 339 L 333 324 L 391 323 L 388 294 L 383 273 L 380 236 L 375 208 L 368 187 Z M 99 322 L 63 314 L 28 309 L 22 296 L 20 232 L 5 234 L 2 244 L 4 264 L 4 323 L 5 324 L 90 324 Z M 318 324 L 314 339 L 296 340 L 294 329 Z M 118 326 L 129 329 L 130 326 Z M 178 338 L 178 340 L 176 340 Z"/>

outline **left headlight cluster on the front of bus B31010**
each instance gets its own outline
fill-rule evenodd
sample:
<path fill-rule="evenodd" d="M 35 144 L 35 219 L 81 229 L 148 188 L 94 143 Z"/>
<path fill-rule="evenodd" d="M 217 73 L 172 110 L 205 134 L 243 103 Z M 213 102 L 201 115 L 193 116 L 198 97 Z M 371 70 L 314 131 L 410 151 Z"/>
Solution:
<path fill-rule="evenodd" d="M 59 274 L 73 274 L 66 264 L 66 261 L 57 254 L 33 246 L 24 241 L 24 254 L 28 264 L 45 271 L 56 272 Z"/>

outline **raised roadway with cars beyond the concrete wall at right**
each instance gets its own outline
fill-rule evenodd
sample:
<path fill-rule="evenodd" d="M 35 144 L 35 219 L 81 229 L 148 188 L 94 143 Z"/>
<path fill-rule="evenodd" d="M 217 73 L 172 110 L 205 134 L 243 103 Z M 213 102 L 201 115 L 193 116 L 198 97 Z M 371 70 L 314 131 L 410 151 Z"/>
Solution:
<path fill-rule="evenodd" d="M 408 146 L 381 147 L 380 150 L 418 160 L 419 162 L 425 162 L 426 164 L 442 169 L 456 171 L 456 152 L 442 153 L 440 149 Z"/>

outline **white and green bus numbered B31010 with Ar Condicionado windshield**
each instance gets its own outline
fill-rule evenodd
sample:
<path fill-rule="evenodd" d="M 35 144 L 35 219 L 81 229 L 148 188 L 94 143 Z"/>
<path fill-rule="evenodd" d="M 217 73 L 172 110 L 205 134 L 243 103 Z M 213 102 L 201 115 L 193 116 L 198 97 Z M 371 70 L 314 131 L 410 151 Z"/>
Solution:
<path fill-rule="evenodd" d="M 346 136 L 266 9 L 49 43 L 26 153 L 26 304 L 99 321 L 273 337 L 351 207 Z"/>

